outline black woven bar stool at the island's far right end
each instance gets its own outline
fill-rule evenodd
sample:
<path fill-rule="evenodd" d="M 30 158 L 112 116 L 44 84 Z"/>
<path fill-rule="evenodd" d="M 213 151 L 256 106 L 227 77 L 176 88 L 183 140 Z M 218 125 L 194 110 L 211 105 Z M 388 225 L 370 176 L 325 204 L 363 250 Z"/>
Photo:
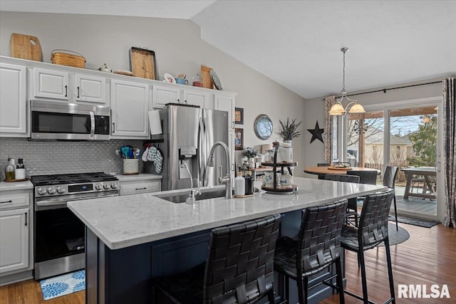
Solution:
<path fill-rule="evenodd" d="M 385 303 L 395 303 L 393 268 L 391 266 L 390 242 L 388 239 L 388 214 L 391 201 L 393 201 L 394 190 L 379 194 L 366 195 L 361 209 L 358 228 L 344 226 L 342 229 L 341 246 L 349 251 L 358 254 L 358 263 L 361 266 L 361 281 L 363 285 L 363 296 L 344 290 L 363 303 L 372 303 L 368 300 L 368 287 L 366 281 L 366 265 L 364 251 L 377 247 L 380 243 L 385 244 L 386 263 L 388 266 L 388 280 L 390 283 L 390 298 Z"/>

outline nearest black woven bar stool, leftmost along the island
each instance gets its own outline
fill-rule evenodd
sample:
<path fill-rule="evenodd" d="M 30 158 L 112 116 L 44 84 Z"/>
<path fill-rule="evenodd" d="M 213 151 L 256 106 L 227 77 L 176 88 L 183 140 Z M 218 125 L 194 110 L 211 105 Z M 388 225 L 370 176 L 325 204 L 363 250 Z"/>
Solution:
<path fill-rule="evenodd" d="M 274 302 L 274 249 L 280 214 L 212 230 L 205 263 L 152 281 L 171 303 Z"/>

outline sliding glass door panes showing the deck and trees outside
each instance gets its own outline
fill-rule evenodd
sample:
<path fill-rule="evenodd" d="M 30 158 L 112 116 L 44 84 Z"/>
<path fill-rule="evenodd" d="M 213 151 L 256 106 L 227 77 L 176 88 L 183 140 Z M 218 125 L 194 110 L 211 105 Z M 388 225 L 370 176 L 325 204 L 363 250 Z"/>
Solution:
<path fill-rule="evenodd" d="M 346 161 L 381 172 L 386 165 L 400 168 L 395 182 L 399 214 L 437 217 L 437 122 L 437 104 L 366 109 L 346 117 Z"/>

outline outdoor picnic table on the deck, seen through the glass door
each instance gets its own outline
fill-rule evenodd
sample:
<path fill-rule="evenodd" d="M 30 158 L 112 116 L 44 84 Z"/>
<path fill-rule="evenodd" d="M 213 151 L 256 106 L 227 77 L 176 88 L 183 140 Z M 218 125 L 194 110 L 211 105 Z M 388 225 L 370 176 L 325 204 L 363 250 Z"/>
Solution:
<path fill-rule="evenodd" d="M 405 184 L 404 199 L 408 199 L 408 196 L 421 197 L 423 199 L 435 199 L 435 192 L 432 188 L 431 177 L 437 177 L 437 170 L 435 167 L 408 167 L 400 168 L 400 171 L 404 172 L 407 183 Z M 424 178 L 423 193 L 410 192 L 412 180 L 415 177 Z"/>

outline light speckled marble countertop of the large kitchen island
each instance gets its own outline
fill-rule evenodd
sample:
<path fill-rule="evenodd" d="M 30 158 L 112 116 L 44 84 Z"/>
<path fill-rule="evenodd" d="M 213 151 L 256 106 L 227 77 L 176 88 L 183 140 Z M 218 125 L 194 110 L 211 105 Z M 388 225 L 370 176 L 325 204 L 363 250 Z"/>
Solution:
<path fill-rule="evenodd" d="M 155 192 L 69 201 L 68 208 L 108 248 L 119 249 L 387 189 L 302 177 L 294 177 L 294 184 L 299 187 L 294 194 L 260 190 L 245 199 L 220 197 L 175 204 L 154 196 L 165 192 Z"/>

